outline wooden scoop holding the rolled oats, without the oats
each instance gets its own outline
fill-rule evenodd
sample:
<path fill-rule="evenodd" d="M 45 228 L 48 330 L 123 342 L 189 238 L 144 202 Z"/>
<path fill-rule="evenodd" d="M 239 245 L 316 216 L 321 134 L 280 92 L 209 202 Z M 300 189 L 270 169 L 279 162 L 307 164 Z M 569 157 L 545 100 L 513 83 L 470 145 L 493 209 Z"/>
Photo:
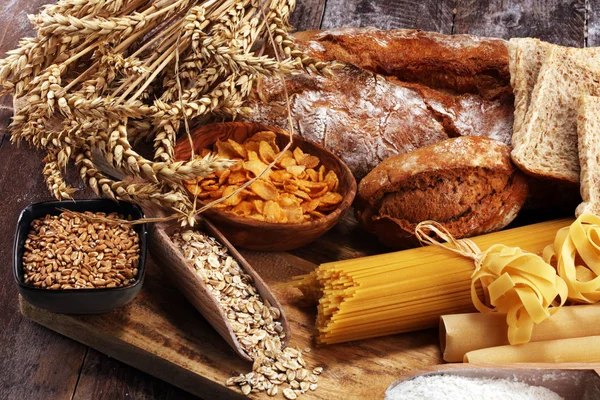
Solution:
<path fill-rule="evenodd" d="M 252 269 L 250 264 L 242 255 L 229 243 L 229 241 L 219 232 L 210 222 L 204 218 L 197 219 L 197 226 L 194 229 L 214 237 L 223 246 L 225 246 L 231 256 L 237 260 L 240 267 L 252 277 L 254 285 L 263 300 L 268 301 L 273 307 L 279 308 L 281 317 L 278 319 L 283 326 L 285 346 L 290 338 L 290 327 L 281 304 L 262 278 Z M 211 294 L 204 281 L 198 276 L 196 270 L 189 261 L 187 261 L 179 248 L 173 244 L 170 235 L 179 227 L 177 222 L 150 224 L 148 235 L 148 248 L 152 257 L 160 264 L 161 268 L 167 272 L 167 276 L 175 283 L 177 288 L 183 293 L 190 303 L 206 318 L 213 328 L 219 332 L 219 335 L 245 360 L 252 362 L 252 358 L 243 350 L 233 328 L 227 319 L 227 315 Z"/>

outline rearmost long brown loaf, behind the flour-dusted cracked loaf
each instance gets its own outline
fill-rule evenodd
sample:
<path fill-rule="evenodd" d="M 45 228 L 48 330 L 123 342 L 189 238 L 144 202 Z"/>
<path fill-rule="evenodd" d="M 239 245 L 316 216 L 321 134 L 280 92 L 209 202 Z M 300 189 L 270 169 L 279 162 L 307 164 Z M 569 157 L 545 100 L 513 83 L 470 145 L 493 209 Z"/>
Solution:
<path fill-rule="evenodd" d="M 343 61 L 403 82 L 484 99 L 512 95 L 502 39 L 413 29 L 340 28 L 295 35 L 299 48 L 323 61 Z"/>

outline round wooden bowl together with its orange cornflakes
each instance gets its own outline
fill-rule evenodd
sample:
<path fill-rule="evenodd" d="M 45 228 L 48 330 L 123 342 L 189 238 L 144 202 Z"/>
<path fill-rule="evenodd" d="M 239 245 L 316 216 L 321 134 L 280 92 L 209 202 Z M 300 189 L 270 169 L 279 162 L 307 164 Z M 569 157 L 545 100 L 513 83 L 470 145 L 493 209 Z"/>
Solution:
<path fill-rule="evenodd" d="M 258 123 L 226 122 L 205 125 L 185 135 L 175 146 L 176 160 L 208 153 L 236 160 L 228 170 L 186 184 L 201 203 L 231 195 L 252 178 L 256 183 L 205 216 L 235 246 L 249 250 L 286 251 L 304 246 L 342 218 L 356 194 L 348 167 L 323 146 L 294 135 L 292 146 L 275 157 L 289 141 L 284 130 Z M 260 175 L 274 162 L 273 168 Z"/>

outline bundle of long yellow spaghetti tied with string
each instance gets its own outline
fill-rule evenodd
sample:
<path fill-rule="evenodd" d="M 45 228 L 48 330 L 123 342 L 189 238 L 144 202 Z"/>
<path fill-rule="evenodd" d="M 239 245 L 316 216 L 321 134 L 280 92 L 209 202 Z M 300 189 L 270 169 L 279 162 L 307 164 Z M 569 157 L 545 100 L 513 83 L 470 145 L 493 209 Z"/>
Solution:
<path fill-rule="evenodd" d="M 503 243 L 541 253 L 570 222 L 543 222 L 473 242 L 484 252 Z M 433 328 L 441 315 L 474 311 L 473 272 L 472 260 L 429 246 L 323 264 L 301 277 L 297 287 L 306 296 L 319 297 L 316 340 L 332 344 Z M 484 298 L 480 283 L 474 290 Z"/>

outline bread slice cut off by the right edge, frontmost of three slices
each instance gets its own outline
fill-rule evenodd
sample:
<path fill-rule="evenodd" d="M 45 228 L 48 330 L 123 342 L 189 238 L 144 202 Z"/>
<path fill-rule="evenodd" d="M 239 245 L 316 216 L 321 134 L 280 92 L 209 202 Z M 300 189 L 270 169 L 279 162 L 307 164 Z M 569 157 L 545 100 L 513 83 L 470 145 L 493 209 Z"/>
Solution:
<path fill-rule="evenodd" d="M 580 191 L 583 202 L 575 210 L 600 215 L 600 97 L 581 96 L 577 117 Z"/>

